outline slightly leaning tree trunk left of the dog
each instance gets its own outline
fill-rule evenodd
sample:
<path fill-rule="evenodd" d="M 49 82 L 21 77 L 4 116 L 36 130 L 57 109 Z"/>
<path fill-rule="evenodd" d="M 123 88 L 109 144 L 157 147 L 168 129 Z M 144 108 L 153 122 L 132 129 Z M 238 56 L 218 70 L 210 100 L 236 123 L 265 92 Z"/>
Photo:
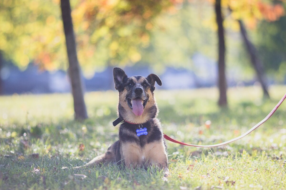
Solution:
<path fill-rule="evenodd" d="M 76 54 L 76 40 L 72 24 L 71 7 L 69 0 L 61 0 L 61 13 L 63 18 L 63 28 L 65 32 L 65 42 L 67 46 L 67 56 L 69 60 L 69 77 L 72 84 L 72 95 L 74 98 L 75 119 L 88 118 L 86 105 L 84 103 L 83 82 L 80 65 Z"/>

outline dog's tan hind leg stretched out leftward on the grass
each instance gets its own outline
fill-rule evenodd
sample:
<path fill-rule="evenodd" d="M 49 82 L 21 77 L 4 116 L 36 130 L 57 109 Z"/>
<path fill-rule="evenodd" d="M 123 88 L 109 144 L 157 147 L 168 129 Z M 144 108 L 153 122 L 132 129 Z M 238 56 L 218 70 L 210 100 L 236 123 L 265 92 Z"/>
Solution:
<path fill-rule="evenodd" d="M 106 164 L 110 162 L 116 162 L 116 153 L 118 148 L 119 141 L 116 141 L 114 144 L 112 144 L 108 149 L 107 152 L 95 157 L 90 162 L 82 165 L 82 166 L 76 166 L 72 167 L 72 169 L 79 169 L 84 167 L 94 167 L 96 165 Z M 62 169 L 68 169 L 69 167 L 62 167 Z"/>

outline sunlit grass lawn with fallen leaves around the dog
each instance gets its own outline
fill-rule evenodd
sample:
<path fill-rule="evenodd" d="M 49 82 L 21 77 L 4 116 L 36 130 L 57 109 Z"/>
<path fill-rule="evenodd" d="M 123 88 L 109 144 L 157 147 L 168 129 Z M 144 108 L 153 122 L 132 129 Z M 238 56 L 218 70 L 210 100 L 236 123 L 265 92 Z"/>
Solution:
<path fill-rule="evenodd" d="M 155 96 L 166 134 L 214 144 L 247 131 L 285 92 L 285 86 L 273 86 L 266 100 L 259 87 L 232 88 L 228 109 L 217 106 L 212 88 L 156 90 Z M 167 181 L 154 168 L 61 170 L 88 162 L 118 140 L 118 127 L 112 126 L 117 101 L 115 91 L 87 93 L 90 119 L 76 122 L 69 94 L 0 97 L 0 189 L 286 189 L 286 103 L 255 132 L 226 147 L 167 142 Z"/>

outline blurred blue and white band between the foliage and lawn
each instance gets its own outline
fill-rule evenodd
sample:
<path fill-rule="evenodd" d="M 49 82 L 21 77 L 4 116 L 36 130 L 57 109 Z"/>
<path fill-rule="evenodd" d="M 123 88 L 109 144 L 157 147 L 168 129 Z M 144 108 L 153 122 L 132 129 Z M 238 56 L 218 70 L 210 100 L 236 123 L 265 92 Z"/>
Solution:
<path fill-rule="evenodd" d="M 217 64 L 202 54 L 195 54 L 192 58 L 193 69 L 165 68 L 159 75 L 162 79 L 162 87 L 159 89 L 189 89 L 199 87 L 212 87 L 217 85 Z M 84 78 L 86 91 L 114 90 L 113 68 L 95 73 L 90 79 Z M 153 71 L 147 66 L 135 65 L 126 67 L 124 71 L 128 76 L 148 76 Z M 252 85 L 251 81 L 241 81 L 239 69 L 228 70 L 228 86 Z M 0 72 L 4 94 L 13 93 L 66 93 L 71 90 L 67 73 L 62 70 L 49 72 L 39 71 L 37 66 L 30 65 L 21 71 L 12 64 L 6 64 Z"/>

